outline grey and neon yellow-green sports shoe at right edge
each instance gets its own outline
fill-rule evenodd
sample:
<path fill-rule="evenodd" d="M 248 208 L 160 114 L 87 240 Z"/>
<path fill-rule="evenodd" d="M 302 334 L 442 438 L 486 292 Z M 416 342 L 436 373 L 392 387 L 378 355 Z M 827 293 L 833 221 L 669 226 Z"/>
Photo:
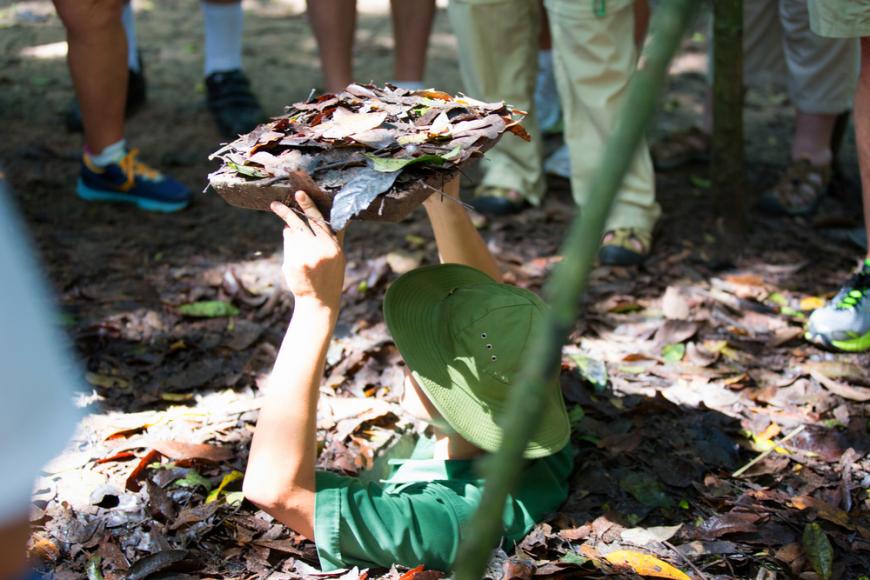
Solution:
<path fill-rule="evenodd" d="M 847 352 L 870 350 L 870 259 L 810 316 L 807 340 Z"/>

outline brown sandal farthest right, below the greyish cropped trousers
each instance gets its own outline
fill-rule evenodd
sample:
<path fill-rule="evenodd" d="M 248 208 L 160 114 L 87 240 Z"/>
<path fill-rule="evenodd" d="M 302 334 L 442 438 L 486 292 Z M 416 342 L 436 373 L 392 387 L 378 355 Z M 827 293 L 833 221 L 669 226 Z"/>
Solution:
<path fill-rule="evenodd" d="M 792 161 L 779 183 L 762 194 L 759 207 L 779 215 L 812 215 L 827 193 L 830 181 L 830 165 L 813 165 L 808 159 Z"/>

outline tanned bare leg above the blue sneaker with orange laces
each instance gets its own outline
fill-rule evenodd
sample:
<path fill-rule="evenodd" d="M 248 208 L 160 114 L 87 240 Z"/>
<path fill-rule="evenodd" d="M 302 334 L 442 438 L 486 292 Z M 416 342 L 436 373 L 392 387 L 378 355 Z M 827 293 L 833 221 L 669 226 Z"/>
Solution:
<path fill-rule="evenodd" d="M 128 70 L 122 3 L 54 0 L 54 5 L 67 31 L 70 76 L 82 110 L 85 145 L 96 153 L 124 136 Z"/>

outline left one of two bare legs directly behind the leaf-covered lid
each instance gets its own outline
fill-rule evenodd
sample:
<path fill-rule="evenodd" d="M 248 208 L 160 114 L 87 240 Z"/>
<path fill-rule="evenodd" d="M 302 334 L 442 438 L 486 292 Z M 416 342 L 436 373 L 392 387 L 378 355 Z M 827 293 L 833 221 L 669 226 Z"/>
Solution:
<path fill-rule="evenodd" d="M 356 0 L 308 0 L 308 20 L 320 50 L 324 88 L 340 91 L 353 81 Z"/>

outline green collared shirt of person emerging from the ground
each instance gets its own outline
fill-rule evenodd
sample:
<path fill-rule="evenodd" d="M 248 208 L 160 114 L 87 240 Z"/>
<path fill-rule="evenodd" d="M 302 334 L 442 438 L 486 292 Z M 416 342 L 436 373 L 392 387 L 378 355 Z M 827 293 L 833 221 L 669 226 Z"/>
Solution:
<path fill-rule="evenodd" d="M 568 497 L 573 450 L 528 463 L 508 498 L 503 535 L 519 541 Z M 466 524 L 480 503 L 483 480 L 471 460 L 432 459 L 421 440 L 411 459 L 392 460 L 380 483 L 317 472 L 314 539 L 324 571 L 393 564 L 449 570 Z"/>

